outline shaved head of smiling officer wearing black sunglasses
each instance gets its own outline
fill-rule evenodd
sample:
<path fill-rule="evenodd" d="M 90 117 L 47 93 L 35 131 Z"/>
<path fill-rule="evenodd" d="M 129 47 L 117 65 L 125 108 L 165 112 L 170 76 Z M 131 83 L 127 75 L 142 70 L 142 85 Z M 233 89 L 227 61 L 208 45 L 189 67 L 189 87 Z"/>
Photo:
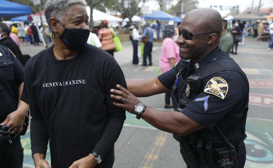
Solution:
<path fill-rule="evenodd" d="M 216 10 L 199 8 L 190 11 L 179 26 L 180 57 L 200 60 L 219 45 L 222 29 L 222 17 Z"/>

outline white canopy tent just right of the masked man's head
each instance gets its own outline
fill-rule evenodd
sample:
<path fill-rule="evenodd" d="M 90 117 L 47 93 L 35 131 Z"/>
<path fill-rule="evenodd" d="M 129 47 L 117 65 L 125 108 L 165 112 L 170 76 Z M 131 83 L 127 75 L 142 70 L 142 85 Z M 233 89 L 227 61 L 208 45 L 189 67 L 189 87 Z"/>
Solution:
<path fill-rule="evenodd" d="M 87 14 L 90 17 L 90 7 L 86 7 Z M 93 21 L 107 20 L 108 22 L 122 22 L 122 18 L 106 14 L 104 12 L 93 9 Z"/>

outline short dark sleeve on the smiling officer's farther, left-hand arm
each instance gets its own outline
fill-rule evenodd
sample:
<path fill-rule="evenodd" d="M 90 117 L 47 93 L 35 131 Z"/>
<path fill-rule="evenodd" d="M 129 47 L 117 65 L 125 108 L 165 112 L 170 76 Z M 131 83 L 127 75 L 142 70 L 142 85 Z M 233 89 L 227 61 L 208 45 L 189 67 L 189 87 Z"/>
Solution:
<path fill-rule="evenodd" d="M 175 64 L 170 70 L 168 70 L 167 72 L 157 77 L 159 82 L 170 90 L 172 90 L 172 86 L 176 80 L 176 75 L 178 73 L 178 69 L 179 69 L 179 65 L 181 64 L 181 61 L 182 60 L 180 60 L 177 64 Z"/>

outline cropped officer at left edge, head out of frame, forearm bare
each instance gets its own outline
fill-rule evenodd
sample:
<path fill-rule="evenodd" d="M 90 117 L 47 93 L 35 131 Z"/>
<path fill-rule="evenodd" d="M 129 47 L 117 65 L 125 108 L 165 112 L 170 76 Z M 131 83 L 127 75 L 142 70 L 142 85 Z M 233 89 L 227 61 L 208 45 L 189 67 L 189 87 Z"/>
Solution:
<path fill-rule="evenodd" d="M 16 56 L 0 44 L 0 126 L 10 126 L 11 135 L 17 135 L 2 154 L 0 167 L 23 167 L 24 150 L 19 134 L 29 110 L 29 105 L 19 100 L 24 85 L 23 69 Z"/>

